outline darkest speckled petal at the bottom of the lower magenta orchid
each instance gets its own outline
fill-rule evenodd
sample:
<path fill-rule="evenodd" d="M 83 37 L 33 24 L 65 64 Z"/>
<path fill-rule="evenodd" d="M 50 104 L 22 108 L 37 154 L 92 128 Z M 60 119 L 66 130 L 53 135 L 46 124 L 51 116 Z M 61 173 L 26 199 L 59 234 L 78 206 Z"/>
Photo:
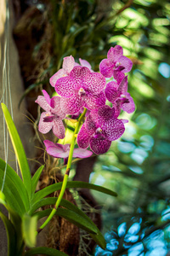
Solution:
<path fill-rule="evenodd" d="M 105 154 L 111 147 L 111 141 L 105 138 L 95 138 L 90 139 L 90 148 L 94 154 Z"/>

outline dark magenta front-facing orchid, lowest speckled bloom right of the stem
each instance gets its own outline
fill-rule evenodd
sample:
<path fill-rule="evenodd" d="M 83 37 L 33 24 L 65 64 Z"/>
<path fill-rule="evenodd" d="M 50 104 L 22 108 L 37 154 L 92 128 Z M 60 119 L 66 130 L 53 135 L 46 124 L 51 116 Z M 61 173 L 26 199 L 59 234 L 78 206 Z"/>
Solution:
<path fill-rule="evenodd" d="M 115 109 L 102 106 L 94 109 L 88 115 L 77 135 L 80 148 L 90 148 L 95 154 L 105 154 L 111 147 L 111 142 L 122 136 L 125 131 L 124 122 L 116 119 Z"/>

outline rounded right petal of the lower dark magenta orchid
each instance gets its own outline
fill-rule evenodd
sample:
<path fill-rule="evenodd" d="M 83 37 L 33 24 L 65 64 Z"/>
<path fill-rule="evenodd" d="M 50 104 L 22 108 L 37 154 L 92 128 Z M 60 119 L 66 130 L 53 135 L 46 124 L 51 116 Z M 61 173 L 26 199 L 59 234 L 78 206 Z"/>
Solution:
<path fill-rule="evenodd" d="M 109 119 L 102 126 L 102 135 L 110 141 L 115 141 L 122 137 L 125 127 L 120 119 Z"/>

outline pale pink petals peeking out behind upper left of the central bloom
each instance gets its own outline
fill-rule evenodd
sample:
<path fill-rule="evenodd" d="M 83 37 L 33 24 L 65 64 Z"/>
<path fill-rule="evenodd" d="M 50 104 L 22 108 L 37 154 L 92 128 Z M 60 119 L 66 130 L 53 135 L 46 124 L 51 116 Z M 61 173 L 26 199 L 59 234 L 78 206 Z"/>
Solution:
<path fill-rule="evenodd" d="M 71 70 L 75 66 L 75 60 L 73 56 L 65 57 L 63 60 L 63 67 L 59 69 L 57 73 L 49 79 L 49 83 L 54 87 L 57 80 L 63 77 L 68 76 L 71 73 Z"/>

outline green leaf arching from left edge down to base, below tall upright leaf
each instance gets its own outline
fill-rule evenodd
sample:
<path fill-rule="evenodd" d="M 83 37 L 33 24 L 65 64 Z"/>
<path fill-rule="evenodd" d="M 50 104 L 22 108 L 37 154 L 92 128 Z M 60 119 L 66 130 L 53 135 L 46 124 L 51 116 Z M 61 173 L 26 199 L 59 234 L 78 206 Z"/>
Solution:
<path fill-rule="evenodd" d="M 25 185 L 23 184 L 22 180 L 17 175 L 17 173 L 14 172 L 14 169 L 11 166 L 8 166 L 8 164 L 6 164 L 5 161 L 0 159 L 0 169 L 3 170 L 3 172 L 4 172 L 5 168 L 6 168 L 6 177 L 8 177 L 10 179 L 10 181 L 11 181 L 11 183 L 13 183 L 15 189 L 19 192 L 20 197 L 25 205 L 26 212 L 27 212 L 30 208 L 30 202 L 29 202 L 29 198 L 28 198 L 28 194 L 27 194 Z M 0 172 L 2 172 L 2 171 L 0 171 Z M 5 183 L 4 183 L 4 186 L 6 186 Z"/>

